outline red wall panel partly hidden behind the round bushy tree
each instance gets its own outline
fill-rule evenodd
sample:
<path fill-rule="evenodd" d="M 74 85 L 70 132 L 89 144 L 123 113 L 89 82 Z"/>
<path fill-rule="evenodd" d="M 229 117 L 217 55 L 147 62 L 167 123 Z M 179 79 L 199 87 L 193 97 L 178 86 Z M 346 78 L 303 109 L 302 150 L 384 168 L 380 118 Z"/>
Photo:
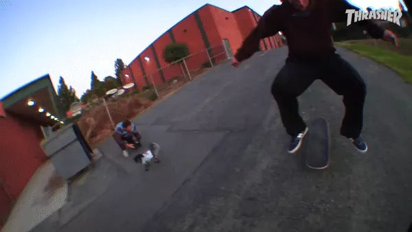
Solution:
<path fill-rule="evenodd" d="M 167 45 L 172 43 L 172 38 L 170 38 L 169 32 L 166 32 L 162 36 L 160 36 L 157 40 L 155 40 L 155 49 L 157 58 L 159 59 L 160 67 L 162 67 L 163 76 L 166 81 L 176 77 L 182 76 L 182 69 L 179 65 L 169 65 L 168 62 L 165 62 L 163 58 L 163 49 Z"/>

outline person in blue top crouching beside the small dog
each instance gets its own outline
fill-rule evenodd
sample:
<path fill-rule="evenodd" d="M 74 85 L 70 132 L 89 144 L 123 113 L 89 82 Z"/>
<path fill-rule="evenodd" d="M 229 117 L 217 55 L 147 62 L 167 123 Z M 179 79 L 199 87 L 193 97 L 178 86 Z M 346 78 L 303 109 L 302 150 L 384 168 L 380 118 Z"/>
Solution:
<path fill-rule="evenodd" d="M 115 135 L 113 135 L 115 141 L 123 151 L 123 155 L 128 157 L 127 148 L 139 148 L 141 146 L 141 136 L 136 130 L 135 124 L 126 120 L 117 124 L 115 128 Z"/>

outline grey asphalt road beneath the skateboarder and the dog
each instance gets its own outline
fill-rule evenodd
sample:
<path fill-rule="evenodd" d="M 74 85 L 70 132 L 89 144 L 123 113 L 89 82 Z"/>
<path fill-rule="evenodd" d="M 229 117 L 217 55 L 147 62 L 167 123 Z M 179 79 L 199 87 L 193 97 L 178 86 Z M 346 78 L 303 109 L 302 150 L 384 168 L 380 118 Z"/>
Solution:
<path fill-rule="evenodd" d="M 54 223 L 59 231 L 407 231 L 412 87 L 366 58 L 339 53 L 367 82 L 367 154 L 339 135 L 341 97 L 321 82 L 299 99 L 306 120 L 330 121 L 331 167 L 308 171 L 300 154 L 287 154 L 269 94 L 286 57 L 277 49 L 239 69 L 216 67 L 139 117 L 145 143 L 163 148 L 163 163 L 150 172 L 107 141 L 98 164 L 112 167 L 106 190 L 76 218 Z M 52 231 L 47 223 L 38 231 Z"/>

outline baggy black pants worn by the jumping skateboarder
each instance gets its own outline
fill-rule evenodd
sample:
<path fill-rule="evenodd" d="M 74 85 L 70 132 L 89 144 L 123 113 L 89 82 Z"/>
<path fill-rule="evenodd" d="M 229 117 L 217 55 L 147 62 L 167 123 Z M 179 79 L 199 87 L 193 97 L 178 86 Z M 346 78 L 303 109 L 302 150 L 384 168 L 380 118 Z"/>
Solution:
<path fill-rule="evenodd" d="M 322 80 L 335 93 L 343 95 L 345 117 L 341 135 L 348 138 L 361 135 L 366 85 L 358 71 L 338 54 L 312 60 L 286 59 L 286 64 L 277 73 L 271 88 L 286 132 L 296 136 L 305 130 L 306 124 L 299 115 L 297 97 L 317 79 Z"/>

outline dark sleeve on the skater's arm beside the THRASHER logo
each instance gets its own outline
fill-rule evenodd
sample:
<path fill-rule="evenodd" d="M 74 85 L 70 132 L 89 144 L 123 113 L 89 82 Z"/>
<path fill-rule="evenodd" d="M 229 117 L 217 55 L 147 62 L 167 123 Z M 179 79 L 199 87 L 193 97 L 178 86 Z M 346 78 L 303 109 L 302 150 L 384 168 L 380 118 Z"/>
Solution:
<path fill-rule="evenodd" d="M 354 23 L 354 14 L 347 14 L 346 10 L 361 10 L 356 6 L 348 3 L 346 0 L 333 0 L 330 1 L 330 4 L 332 5 L 333 23 L 347 22 L 348 16 L 352 17 L 352 23 Z M 372 38 L 383 38 L 383 35 L 385 34 L 385 28 L 383 28 L 379 23 L 377 23 L 377 21 L 374 20 L 362 20 L 357 21 L 354 24 L 364 27 Z"/>

